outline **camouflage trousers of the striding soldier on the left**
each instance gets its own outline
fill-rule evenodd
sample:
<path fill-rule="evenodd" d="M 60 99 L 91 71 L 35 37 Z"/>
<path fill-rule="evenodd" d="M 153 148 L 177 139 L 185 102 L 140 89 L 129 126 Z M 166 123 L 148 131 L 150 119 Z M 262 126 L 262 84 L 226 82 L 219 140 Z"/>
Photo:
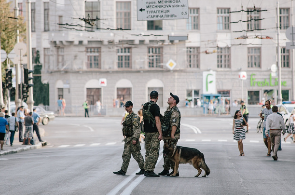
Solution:
<path fill-rule="evenodd" d="M 123 151 L 123 155 L 122 155 L 123 163 L 121 166 L 121 169 L 124 172 L 127 171 L 131 155 L 138 163 L 139 168 L 143 169 L 144 159 L 140 153 L 140 150 L 141 150 L 141 146 L 138 141 L 136 142 L 135 145 L 132 144 L 132 140 L 130 140 L 129 142 L 125 142 L 124 151 Z"/>

